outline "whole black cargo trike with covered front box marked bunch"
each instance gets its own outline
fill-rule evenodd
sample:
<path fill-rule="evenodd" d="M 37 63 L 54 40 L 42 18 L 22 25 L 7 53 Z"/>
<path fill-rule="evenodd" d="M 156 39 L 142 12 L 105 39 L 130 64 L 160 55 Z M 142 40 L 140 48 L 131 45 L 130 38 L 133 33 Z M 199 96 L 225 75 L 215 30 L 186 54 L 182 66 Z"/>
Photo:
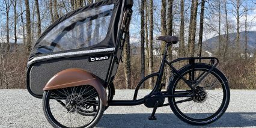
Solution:
<path fill-rule="evenodd" d="M 132 16 L 133 0 L 108 0 L 72 11 L 50 25 L 32 49 L 27 66 L 29 93 L 43 99 L 43 111 L 53 127 L 94 127 L 109 106 L 144 104 L 156 109 L 170 106 L 180 120 L 204 125 L 218 120 L 230 101 L 228 79 L 216 68 L 215 57 L 166 59 L 168 48 L 178 37 L 165 41 L 159 72 L 139 82 L 132 100 L 113 100 L 113 84 L 120 63 L 124 39 Z M 201 62 L 209 60 L 208 63 Z M 181 68 L 174 63 L 186 61 Z M 162 83 L 165 67 L 172 77 L 167 89 Z M 156 77 L 153 90 L 142 99 L 138 91 Z M 168 100 L 168 103 L 165 102 Z"/>

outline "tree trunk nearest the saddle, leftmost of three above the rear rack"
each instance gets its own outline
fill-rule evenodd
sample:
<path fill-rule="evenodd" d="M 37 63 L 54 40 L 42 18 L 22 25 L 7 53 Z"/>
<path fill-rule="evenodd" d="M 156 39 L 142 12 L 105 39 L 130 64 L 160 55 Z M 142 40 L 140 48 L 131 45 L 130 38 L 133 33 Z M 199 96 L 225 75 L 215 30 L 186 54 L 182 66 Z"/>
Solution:
<path fill-rule="evenodd" d="M 185 42 L 184 42 L 184 0 L 180 1 L 180 49 L 179 56 L 186 55 Z"/>

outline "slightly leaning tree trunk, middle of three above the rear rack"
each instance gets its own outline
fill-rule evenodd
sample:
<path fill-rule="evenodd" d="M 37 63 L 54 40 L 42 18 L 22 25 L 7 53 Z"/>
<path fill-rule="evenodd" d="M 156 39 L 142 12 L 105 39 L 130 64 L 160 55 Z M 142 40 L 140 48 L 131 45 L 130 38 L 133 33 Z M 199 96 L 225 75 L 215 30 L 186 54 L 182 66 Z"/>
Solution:
<path fill-rule="evenodd" d="M 197 7 L 198 7 L 198 0 L 195 0 L 194 3 L 194 12 L 193 12 L 193 20 L 192 20 L 192 31 L 191 31 L 191 39 L 190 39 L 190 50 L 189 55 L 194 57 L 195 53 L 195 35 L 197 31 Z"/>

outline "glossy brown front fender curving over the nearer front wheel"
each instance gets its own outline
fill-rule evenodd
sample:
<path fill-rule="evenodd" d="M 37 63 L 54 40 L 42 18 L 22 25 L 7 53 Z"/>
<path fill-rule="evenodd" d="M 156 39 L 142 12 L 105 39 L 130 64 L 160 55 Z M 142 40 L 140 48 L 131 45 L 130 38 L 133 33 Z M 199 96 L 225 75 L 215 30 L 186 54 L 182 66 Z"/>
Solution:
<path fill-rule="evenodd" d="M 99 97 L 102 100 L 103 105 L 108 105 L 106 89 L 102 82 L 97 78 L 97 76 L 93 75 L 93 73 L 82 69 L 66 69 L 57 73 L 50 78 L 43 90 L 56 90 L 81 85 L 93 86 L 97 93 L 99 93 Z"/>

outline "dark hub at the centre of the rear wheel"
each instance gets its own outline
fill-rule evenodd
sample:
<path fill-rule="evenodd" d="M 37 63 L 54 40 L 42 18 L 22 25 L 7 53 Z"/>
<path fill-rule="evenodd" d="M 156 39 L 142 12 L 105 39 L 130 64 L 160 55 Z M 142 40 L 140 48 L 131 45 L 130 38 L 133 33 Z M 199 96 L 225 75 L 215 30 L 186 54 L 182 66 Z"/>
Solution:
<path fill-rule="evenodd" d="M 193 97 L 193 101 L 197 103 L 203 103 L 207 99 L 207 92 L 203 87 L 195 88 L 195 96 Z"/>

